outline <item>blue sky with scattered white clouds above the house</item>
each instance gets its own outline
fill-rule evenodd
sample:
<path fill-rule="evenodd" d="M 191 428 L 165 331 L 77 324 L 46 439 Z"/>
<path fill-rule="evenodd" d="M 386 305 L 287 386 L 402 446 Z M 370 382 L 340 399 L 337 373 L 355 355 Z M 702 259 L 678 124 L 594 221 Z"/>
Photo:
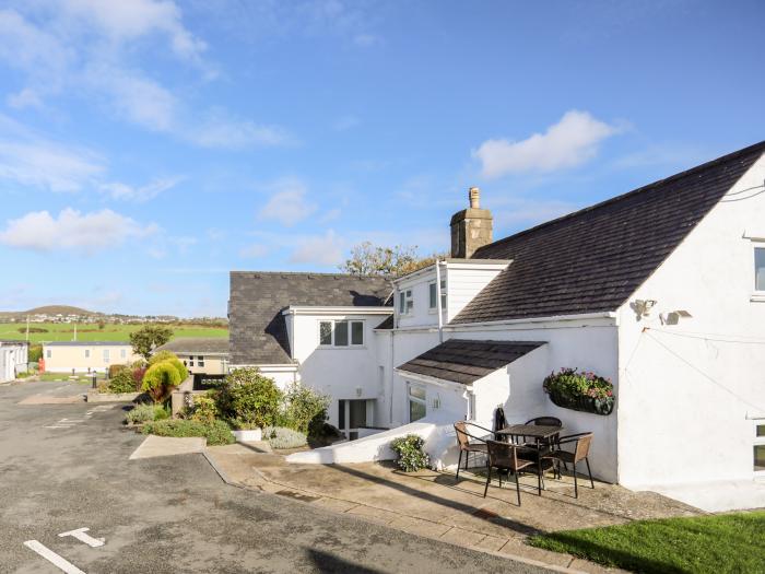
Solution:
<path fill-rule="evenodd" d="M 765 3 L 0 3 L 0 309 L 495 237 L 763 139 Z"/>

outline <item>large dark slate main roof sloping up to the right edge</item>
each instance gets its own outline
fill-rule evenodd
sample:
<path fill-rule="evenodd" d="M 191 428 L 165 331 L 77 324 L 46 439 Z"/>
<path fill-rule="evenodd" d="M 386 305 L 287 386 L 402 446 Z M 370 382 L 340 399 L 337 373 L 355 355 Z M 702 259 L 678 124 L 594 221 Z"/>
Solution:
<path fill-rule="evenodd" d="M 765 141 L 478 249 L 513 259 L 451 321 L 615 311 L 765 152 Z"/>

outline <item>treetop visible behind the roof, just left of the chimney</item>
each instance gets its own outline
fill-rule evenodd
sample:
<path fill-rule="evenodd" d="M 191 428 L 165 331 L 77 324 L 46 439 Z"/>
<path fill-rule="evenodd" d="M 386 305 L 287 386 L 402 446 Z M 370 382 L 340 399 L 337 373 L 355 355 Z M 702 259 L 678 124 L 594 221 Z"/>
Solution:
<path fill-rule="evenodd" d="M 433 265 L 437 257 L 444 258 L 446 255 L 434 254 L 422 257 L 417 254 L 416 246 L 380 247 L 370 242 L 364 242 L 351 249 L 351 257 L 340 266 L 340 269 L 344 273 L 355 276 L 401 277 Z"/>

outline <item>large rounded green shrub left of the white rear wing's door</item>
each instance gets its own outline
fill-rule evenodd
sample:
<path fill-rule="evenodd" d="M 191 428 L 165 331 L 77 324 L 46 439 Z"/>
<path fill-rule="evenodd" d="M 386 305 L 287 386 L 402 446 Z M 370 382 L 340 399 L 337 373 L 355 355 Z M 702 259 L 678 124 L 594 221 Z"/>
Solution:
<path fill-rule="evenodd" d="M 224 415 L 251 427 L 273 424 L 279 415 L 282 393 L 272 378 L 257 368 L 235 368 L 226 375 L 217 394 L 217 406 Z"/>

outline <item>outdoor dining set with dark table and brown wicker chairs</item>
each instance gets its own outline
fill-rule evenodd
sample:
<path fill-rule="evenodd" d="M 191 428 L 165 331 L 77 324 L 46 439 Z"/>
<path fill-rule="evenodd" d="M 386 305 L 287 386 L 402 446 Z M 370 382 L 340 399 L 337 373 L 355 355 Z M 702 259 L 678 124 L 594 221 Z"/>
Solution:
<path fill-rule="evenodd" d="M 492 481 L 492 470 L 497 470 L 499 487 L 503 475 L 513 476 L 516 482 L 518 505 L 520 505 L 520 484 L 518 476 L 521 472 L 537 475 L 537 492 L 541 496 L 544 489 L 544 473 L 553 471 L 553 478 L 560 479 L 561 465 L 567 470 L 572 465 L 574 475 L 574 495 L 579 497 L 579 484 L 577 480 L 577 462 L 585 461 L 590 487 L 595 489 L 592 471 L 588 459 L 592 433 L 577 433 L 562 436 L 563 423 L 555 417 L 538 417 L 525 424 L 503 424 L 495 431 L 484 429 L 475 423 L 459 421 L 455 423 L 457 445 L 459 447 L 459 462 L 457 464 L 457 479 L 462 467 L 468 468 L 470 455 L 473 460 L 476 456 L 486 459 L 486 485 L 483 496 L 489 492 Z M 484 434 L 486 433 L 486 434 Z M 476 436 L 483 434 L 483 437 Z M 493 438 L 490 438 L 493 437 Z M 564 448 L 565 446 L 565 448 Z"/>

